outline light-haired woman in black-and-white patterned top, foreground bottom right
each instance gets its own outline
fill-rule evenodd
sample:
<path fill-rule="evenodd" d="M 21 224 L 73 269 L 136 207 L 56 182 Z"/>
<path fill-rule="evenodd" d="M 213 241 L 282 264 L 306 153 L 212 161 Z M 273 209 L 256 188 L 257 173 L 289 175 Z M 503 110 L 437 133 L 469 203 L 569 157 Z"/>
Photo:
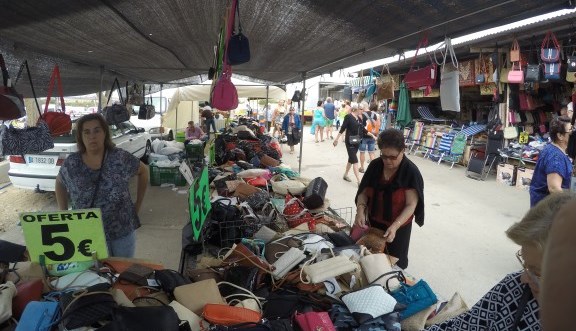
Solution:
<path fill-rule="evenodd" d="M 522 271 L 506 276 L 468 312 L 426 330 L 542 330 L 539 293 L 544 247 L 557 211 L 574 197 L 571 193 L 548 196 L 512 225 L 506 235 L 520 246 L 516 257 Z"/>

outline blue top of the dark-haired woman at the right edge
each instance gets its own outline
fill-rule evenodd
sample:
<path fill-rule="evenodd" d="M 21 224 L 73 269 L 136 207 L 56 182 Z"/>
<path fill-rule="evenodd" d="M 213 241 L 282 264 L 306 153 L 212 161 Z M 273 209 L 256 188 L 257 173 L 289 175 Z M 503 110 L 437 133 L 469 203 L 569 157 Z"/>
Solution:
<path fill-rule="evenodd" d="M 546 176 L 553 173 L 557 173 L 562 177 L 563 189 L 570 188 L 572 163 L 568 156 L 558 147 L 548 144 L 540 152 L 538 162 L 536 162 L 536 167 L 534 168 L 534 175 L 532 175 L 532 182 L 530 183 L 530 207 L 534 207 L 540 200 L 550 194 Z"/>

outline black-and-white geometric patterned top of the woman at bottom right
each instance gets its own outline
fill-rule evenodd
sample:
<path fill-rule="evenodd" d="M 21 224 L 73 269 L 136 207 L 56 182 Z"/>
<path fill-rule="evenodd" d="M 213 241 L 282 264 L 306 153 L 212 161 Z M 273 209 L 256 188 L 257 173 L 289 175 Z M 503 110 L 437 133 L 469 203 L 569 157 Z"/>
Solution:
<path fill-rule="evenodd" d="M 426 331 L 541 331 L 538 301 L 532 296 L 524 308 L 517 330 L 514 319 L 525 284 L 520 282 L 522 272 L 511 273 L 496 284 L 468 312 L 432 325 Z"/>

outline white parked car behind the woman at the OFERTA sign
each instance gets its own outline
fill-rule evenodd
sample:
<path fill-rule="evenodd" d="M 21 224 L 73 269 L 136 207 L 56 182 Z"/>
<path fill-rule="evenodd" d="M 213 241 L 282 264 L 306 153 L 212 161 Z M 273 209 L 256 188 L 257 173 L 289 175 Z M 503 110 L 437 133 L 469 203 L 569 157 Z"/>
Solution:
<path fill-rule="evenodd" d="M 110 125 L 112 141 L 141 160 L 147 160 L 152 151 L 150 135 L 130 121 Z M 8 177 L 15 187 L 54 191 L 60 166 L 70 153 L 76 152 L 76 126 L 69 135 L 54 138 L 54 148 L 38 154 L 11 155 Z"/>

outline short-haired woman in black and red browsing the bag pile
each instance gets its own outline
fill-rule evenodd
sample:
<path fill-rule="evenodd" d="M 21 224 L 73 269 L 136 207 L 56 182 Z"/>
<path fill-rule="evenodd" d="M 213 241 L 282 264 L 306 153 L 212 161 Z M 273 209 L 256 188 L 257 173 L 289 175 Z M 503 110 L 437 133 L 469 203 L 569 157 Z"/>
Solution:
<path fill-rule="evenodd" d="M 424 225 L 424 180 L 418 167 L 404 155 L 404 136 L 387 129 L 378 136 L 380 158 L 370 162 L 356 194 L 357 226 L 385 231 L 387 253 L 408 267 L 412 220 Z"/>

